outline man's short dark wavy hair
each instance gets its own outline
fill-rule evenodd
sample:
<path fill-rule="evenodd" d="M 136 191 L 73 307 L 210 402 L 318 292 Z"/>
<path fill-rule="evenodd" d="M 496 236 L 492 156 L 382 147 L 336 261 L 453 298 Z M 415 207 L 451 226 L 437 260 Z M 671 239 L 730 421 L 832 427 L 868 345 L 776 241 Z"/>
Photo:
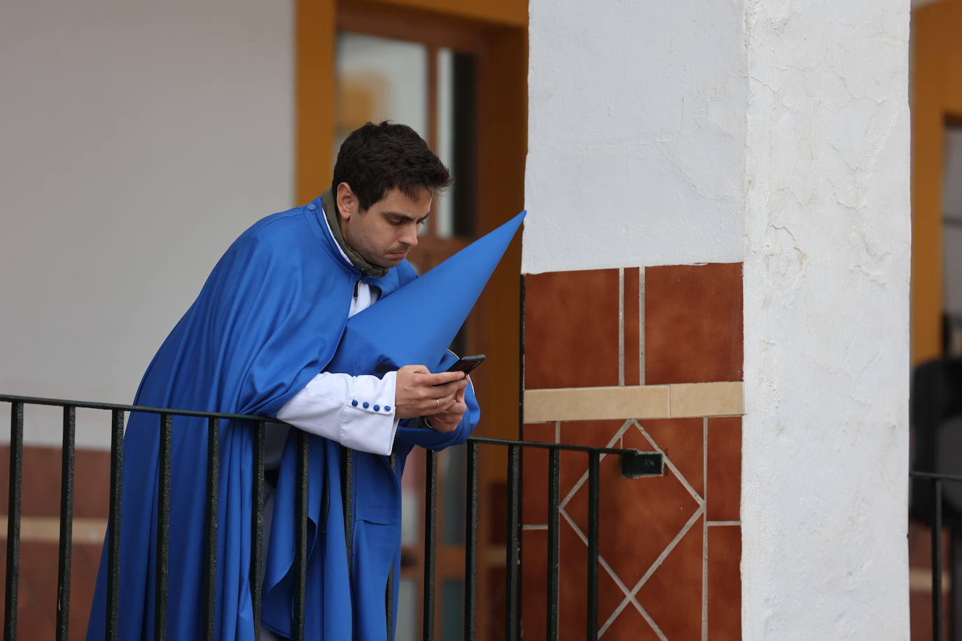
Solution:
<path fill-rule="evenodd" d="M 331 183 L 335 193 L 342 183 L 367 210 L 392 189 L 412 198 L 420 189 L 434 195 L 451 185 L 451 174 L 415 130 L 385 120 L 368 122 L 343 141 Z"/>

